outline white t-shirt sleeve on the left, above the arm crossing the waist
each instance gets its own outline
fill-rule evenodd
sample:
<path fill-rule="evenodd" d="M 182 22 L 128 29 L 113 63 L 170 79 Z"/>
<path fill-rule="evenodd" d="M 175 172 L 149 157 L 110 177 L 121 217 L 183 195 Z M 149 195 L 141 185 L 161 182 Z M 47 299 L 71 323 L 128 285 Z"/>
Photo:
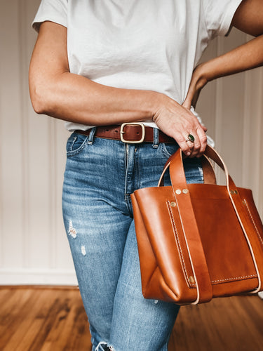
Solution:
<path fill-rule="evenodd" d="M 51 21 L 67 27 L 67 0 L 41 0 L 32 27 L 39 32 L 44 21 Z"/>

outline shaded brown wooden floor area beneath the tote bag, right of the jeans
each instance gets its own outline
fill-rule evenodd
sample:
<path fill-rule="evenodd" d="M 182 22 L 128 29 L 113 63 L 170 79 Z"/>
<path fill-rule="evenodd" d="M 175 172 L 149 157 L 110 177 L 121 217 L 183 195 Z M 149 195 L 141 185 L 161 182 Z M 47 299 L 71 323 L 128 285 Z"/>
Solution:
<path fill-rule="evenodd" d="M 169 351 L 262 350 L 263 301 L 257 296 L 218 298 L 183 306 Z"/>

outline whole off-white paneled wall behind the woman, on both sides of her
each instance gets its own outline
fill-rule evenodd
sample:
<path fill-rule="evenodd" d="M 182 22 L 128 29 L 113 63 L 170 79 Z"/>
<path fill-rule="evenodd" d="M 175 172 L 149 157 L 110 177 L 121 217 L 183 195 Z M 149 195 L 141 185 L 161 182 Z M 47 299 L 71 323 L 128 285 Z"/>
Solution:
<path fill-rule="evenodd" d="M 39 2 L 0 0 L 0 284 L 76 284 L 61 211 L 68 133 L 62 121 L 34 113 L 27 87 L 36 39 L 30 23 Z M 233 30 L 203 59 L 248 39 Z M 252 188 L 261 214 L 262 84 L 262 68 L 218 79 L 197 106 L 231 175 Z"/>

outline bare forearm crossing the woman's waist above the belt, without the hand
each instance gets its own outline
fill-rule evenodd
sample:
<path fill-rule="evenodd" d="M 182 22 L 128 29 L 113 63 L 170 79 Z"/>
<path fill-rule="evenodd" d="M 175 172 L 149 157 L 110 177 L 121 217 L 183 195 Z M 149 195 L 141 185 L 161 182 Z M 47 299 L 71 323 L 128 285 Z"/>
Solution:
<path fill-rule="evenodd" d="M 151 120 L 157 100 L 153 91 L 113 88 L 69 72 L 32 83 L 34 110 L 39 114 L 80 124 L 105 125 Z"/>

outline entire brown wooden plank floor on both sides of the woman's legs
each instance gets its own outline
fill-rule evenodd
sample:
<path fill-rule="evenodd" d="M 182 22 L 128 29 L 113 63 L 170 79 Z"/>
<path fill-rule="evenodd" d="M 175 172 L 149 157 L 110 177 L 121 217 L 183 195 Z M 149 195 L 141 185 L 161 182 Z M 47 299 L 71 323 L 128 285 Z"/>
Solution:
<path fill-rule="evenodd" d="M 79 290 L 0 287 L 0 350 L 89 351 Z M 240 296 L 182 307 L 169 343 L 174 350 L 263 350 L 263 300 Z"/>

